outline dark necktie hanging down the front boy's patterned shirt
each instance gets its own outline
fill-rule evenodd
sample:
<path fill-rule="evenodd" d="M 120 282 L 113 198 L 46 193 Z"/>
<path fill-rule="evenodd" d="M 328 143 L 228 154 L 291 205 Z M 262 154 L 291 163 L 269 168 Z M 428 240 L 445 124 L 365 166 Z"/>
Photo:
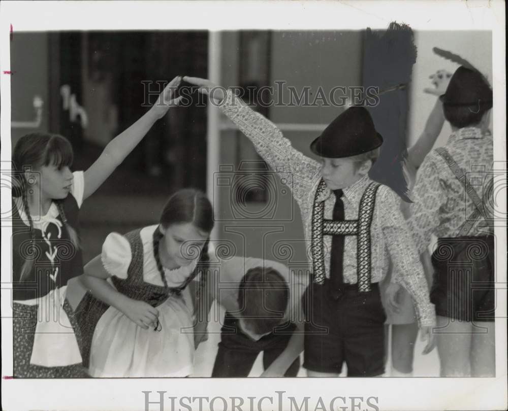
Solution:
<path fill-rule="evenodd" d="M 344 203 L 341 199 L 342 190 L 333 190 L 335 194 L 335 206 L 333 208 L 333 220 L 344 221 Z M 343 260 L 344 260 L 344 235 L 332 236 L 332 252 L 330 257 L 330 295 L 334 299 L 339 299 L 342 295 Z"/>

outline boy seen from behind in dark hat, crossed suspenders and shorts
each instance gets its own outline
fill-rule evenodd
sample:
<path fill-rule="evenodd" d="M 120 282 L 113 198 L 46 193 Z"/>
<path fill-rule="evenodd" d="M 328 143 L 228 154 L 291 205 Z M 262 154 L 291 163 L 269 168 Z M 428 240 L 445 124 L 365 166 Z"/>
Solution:
<path fill-rule="evenodd" d="M 460 66 L 440 97 L 452 135 L 418 170 L 408 225 L 420 253 L 431 235 L 431 301 L 442 376 L 494 376 L 492 89 Z"/>

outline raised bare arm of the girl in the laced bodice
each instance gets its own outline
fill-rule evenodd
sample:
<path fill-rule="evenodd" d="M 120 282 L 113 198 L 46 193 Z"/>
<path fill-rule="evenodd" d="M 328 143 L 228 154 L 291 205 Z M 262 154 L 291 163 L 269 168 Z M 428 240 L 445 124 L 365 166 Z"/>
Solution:
<path fill-rule="evenodd" d="M 99 158 L 84 173 L 83 200 L 92 195 L 113 173 L 129 153 L 134 150 L 152 125 L 164 117 L 170 107 L 177 106 L 182 97 L 172 99 L 181 78 L 175 77 L 158 97 L 157 102 L 132 126 L 117 135 Z"/>

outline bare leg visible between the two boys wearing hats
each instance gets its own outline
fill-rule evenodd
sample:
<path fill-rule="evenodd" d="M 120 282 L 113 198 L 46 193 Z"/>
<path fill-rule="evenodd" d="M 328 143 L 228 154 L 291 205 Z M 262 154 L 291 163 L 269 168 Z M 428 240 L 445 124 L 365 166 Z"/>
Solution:
<path fill-rule="evenodd" d="M 418 324 L 392 325 L 392 368 L 400 373 L 412 372 Z"/>

